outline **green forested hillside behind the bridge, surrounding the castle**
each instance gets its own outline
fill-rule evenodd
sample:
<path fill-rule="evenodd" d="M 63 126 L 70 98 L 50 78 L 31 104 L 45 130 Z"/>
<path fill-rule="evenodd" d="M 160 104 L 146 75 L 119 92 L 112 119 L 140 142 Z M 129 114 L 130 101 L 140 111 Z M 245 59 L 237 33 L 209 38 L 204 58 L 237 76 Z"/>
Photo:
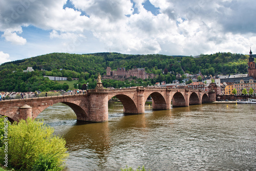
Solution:
<path fill-rule="evenodd" d="M 69 54 L 51 53 L 23 60 L 3 63 L 0 66 L 0 91 L 49 91 L 67 90 L 67 84 L 59 84 L 51 81 L 47 76 L 61 76 L 79 78 L 79 82 L 90 82 L 93 88 L 97 73 L 106 73 L 106 67 L 112 70 L 124 67 L 126 70 L 133 67 L 145 68 L 147 73 L 155 73 L 159 76 L 153 80 L 145 80 L 147 84 L 156 81 L 172 82 L 175 74 L 193 73 L 201 71 L 203 75 L 247 73 L 248 55 L 216 53 L 191 56 L 167 56 L 167 55 L 127 55 L 120 53 L 95 53 L 95 54 Z M 27 67 L 33 67 L 34 72 L 24 73 Z M 184 72 L 183 72 L 184 71 Z M 169 72 L 172 72 L 170 74 Z M 107 87 L 119 88 L 122 83 L 108 82 Z M 111 83 L 113 82 L 113 83 Z M 122 81 L 121 81 L 122 82 Z M 139 80 L 141 82 L 141 80 Z M 114 85 L 112 85 L 114 84 Z M 127 82 L 131 84 L 131 82 Z"/>

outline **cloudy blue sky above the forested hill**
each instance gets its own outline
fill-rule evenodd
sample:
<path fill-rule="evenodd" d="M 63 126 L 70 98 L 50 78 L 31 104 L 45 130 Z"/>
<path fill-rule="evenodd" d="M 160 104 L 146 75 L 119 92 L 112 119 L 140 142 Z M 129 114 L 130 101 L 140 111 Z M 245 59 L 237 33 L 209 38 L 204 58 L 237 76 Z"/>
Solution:
<path fill-rule="evenodd" d="M 1 0 L 0 63 L 37 55 L 248 54 L 254 0 Z"/>

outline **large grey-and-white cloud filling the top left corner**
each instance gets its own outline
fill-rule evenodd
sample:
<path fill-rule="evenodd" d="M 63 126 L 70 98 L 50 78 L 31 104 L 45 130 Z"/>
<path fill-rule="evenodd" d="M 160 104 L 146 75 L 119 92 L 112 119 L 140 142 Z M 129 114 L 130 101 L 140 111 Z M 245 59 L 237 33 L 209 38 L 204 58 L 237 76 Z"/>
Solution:
<path fill-rule="evenodd" d="M 45 30 L 83 31 L 88 17 L 71 8 L 63 9 L 67 0 L 2 0 L 0 30 L 33 25 Z"/>

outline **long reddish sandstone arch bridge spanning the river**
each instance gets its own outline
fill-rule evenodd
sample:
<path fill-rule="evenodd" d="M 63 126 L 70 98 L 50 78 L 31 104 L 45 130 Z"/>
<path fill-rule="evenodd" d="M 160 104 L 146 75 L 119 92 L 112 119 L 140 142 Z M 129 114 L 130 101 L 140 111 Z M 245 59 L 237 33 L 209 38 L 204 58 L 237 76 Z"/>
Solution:
<path fill-rule="evenodd" d="M 42 111 L 55 103 L 64 103 L 73 109 L 77 120 L 90 122 L 108 121 L 108 101 L 117 97 L 123 104 L 125 114 L 144 113 L 144 104 L 152 97 L 153 109 L 169 110 L 173 106 L 189 106 L 216 100 L 215 92 L 193 89 L 170 88 L 130 88 L 130 89 L 93 89 L 87 94 L 14 99 L 0 102 L 0 115 L 10 121 L 35 119 Z"/>

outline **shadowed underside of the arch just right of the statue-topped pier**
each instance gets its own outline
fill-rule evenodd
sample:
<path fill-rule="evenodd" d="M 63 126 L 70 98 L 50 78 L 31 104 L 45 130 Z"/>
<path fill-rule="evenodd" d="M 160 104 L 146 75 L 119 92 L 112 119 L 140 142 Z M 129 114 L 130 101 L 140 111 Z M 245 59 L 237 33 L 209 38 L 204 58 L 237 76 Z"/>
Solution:
<path fill-rule="evenodd" d="M 137 105 L 135 104 L 134 100 L 131 97 L 124 94 L 117 94 L 109 97 L 109 100 L 114 96 L 117 97 L 123 104 L 124 114 L 138 114 Z"/>

